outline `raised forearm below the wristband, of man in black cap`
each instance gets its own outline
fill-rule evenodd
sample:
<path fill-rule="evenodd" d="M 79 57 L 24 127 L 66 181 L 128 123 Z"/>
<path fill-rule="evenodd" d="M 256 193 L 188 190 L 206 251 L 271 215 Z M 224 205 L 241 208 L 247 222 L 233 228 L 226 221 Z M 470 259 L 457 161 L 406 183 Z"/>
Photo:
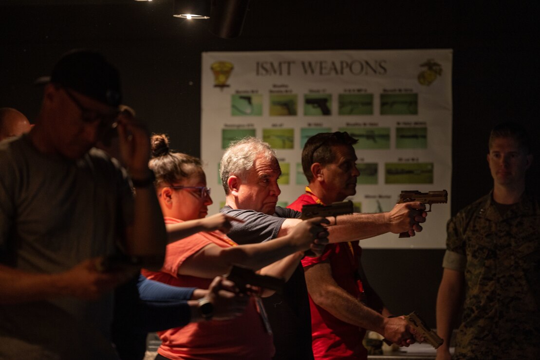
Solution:
<path fill-rule="evenodd" d="M 127 253 L 141 257 L 143 267 L 147 269 L 160 269 L 167 239 L 163 215 L 153 186 L 138 187 L 136 192 Z"/>

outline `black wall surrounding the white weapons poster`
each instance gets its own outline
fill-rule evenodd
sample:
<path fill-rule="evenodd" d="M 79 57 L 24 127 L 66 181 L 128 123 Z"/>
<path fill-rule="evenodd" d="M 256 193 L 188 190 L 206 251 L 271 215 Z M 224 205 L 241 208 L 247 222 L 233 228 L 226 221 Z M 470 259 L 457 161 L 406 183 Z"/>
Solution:
<path fill-rule="evenodd" d="M 151 131 L 199 155 L 203 51 L 450 48 L 455 214 L 491 187 L 490 127 L 516 120 L 540 138 L 539 8 L 519 1 L 252 0 L 242 35 L 221 39 L 204 22 L 173 18 L 172 0 L 0 0 L 0 107 L 35 118 L 41 89 L 33 81 L 63 52 L 91 47 L 119 67 L 124 103 Z M 530 173 L 538 187 L 538 166 Z M 435 326 L 443 253 L 367 249 L 363 262 L 394 313 L 417 310 Z"/>

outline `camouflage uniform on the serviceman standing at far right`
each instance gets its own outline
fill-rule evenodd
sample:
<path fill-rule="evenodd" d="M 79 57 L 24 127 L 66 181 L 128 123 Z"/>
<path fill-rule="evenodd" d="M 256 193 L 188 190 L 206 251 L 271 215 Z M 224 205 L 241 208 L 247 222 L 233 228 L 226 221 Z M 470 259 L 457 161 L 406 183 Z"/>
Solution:
<path fill-rule="evenodd" d="M 540 201 L 524 195 L 501 216 L 490 193 L 447 231 L 443 267 L 465 273 L 454 358 L 539 358 Z"/>

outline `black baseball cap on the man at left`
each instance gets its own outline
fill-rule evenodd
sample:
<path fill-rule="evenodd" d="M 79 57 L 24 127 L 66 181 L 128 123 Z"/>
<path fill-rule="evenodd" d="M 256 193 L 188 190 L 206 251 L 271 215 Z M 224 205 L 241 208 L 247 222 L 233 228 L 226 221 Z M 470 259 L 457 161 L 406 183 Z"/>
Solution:
<path fill-rule="evenodd" d="M 94 50 L 65 53 L 53 67 L 51 76 L 36 80 L 36 84 L 45 83 L 68 87 L 113 107 L 122 101 L 118 70 Z"/>

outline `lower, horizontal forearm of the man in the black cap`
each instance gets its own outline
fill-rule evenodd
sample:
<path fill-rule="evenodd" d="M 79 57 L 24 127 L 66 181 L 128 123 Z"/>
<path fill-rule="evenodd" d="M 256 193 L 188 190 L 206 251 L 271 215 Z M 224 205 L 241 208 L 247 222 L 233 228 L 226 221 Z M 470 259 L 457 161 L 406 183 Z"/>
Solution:
<path fill-rule="evenodd" d="M 69 289 L 63 273 L 33 274 L 0 265 L 2 304 L 42 301 L 64 295 L 69 295 Z"/>

